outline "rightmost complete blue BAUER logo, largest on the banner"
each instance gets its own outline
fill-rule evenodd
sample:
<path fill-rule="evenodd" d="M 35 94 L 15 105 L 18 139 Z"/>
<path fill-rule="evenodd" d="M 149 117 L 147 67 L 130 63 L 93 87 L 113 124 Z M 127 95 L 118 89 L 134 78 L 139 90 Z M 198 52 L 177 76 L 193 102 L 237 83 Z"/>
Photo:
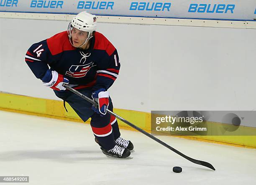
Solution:
<path fill-rule="evenodd" d="M 236 5 L 190 4 L 188 12 L 196 13 L 234 13 Z"/>

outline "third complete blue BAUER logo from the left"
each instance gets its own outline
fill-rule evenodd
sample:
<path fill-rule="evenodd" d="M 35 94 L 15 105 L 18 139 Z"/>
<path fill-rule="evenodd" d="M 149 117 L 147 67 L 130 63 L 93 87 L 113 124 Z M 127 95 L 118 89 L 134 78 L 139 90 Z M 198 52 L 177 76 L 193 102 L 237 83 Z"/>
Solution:
<path fill-rule="evenodd" d="M 170 11 L 172 3 L 131 2 L 130 10 Z"/>

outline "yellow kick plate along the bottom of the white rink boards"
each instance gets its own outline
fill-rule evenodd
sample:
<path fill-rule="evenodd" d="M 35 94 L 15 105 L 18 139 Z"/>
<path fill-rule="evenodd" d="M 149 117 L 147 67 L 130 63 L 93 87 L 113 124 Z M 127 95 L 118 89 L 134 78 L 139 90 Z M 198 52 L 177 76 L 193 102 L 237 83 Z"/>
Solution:
<path fill-rule="evenodd" d="M 68 112 L 63 107 L 63 101 L 34 98 L 15 94 L 0 93 L 0 110 L 32 114 L 42 117 L 64 119 L 68 121 L 81 122 L 74 110 L 66 104 Z M 151 115 L 146 112 L 138 112 L 125 109 L 114 109 L 114 112 L 132 122 L 141 129 L 151 132 Z M 85 122 L 90 124 L 90 119 Z M 131 129 L 127 124 L 118 122 L 122 129 Z M 36 123 L 35 123 L 36 124 Z M 212 124 L 212 123 L 211 123 Z M 246 129 L 246 127 L 244 127 Z M 217 142 L 239 147 L 256 148 L 256 136 L 178 136 L 187 139 L 196 139 L 207 142 Z"/>

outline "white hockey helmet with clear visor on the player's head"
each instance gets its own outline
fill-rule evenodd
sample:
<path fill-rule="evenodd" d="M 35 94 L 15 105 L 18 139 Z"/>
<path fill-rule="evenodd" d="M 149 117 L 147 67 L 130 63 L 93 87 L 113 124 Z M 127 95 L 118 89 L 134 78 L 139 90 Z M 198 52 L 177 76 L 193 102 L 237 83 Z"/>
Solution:
<path fill-rule="evenodd" d="M 87 11 L 81 12 L 77 14 L 69 23 L 68 26 L 68 34 L 69 34 L 69 41 L 72 44 L 71 38 L 72 34 L 71 31 L 73 28 L 76 28 L 77 30 L 87 31 L 87 39 L 84 41 L 84 43 L 81 45 L 83 46 L 87 41 L 89 41 L 90 38 L 93 37 L 93 32 L 97 28 L 97 19 L 95 15 L 92 15 L 90 13 L 87 13 Z M 73 44 L 72 44 L 73 45 Z M 79 46 L 79 47 L 81 47 Z"/>

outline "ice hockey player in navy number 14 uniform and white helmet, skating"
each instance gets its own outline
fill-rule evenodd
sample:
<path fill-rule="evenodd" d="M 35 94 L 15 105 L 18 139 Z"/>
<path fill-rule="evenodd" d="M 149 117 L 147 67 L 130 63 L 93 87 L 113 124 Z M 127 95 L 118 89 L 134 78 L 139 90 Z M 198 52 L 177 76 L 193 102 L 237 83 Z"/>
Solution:
<path fill-rule="evenodd" d="M 96 27 L 96 16 L 81 12 L 69 23 L 67 31 L 34 43 L 25 61 L 36 78 L 64 100 L 64 106 L 68 102 L 84 122 L 91 118 L 95 141 L 105 155 L 128 158 L 133 144 L 120 137 L 116 118 L 106 112 L 113 110 L 108 89 L 118 77 L 118 52 L 104 35 L 95 31 Z M 94 99 L 99 106 L 92 106 L 63 84 Z"/>

